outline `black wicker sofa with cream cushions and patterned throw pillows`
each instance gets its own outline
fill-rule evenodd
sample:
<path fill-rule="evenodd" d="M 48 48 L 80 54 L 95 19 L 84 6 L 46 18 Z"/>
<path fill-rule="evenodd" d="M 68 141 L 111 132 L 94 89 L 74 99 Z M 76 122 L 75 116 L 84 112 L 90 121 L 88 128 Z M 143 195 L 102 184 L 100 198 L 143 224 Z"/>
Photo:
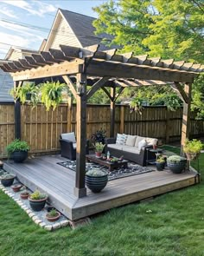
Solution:
<path fill-rule="evenodd" d="M 156 145 L 157 141 L 156 138 L 118 134 L 117 138 L 108 138 L 105 140 L 105 151 L 109 151 L 112 156 L 116 157 L 123 155 L 125 160 L 145 166 L 147 160 L 155 160 L 156 154 L 150 151 L 147 152 L 147 149 L 153 148 L 153 145 Z"/>

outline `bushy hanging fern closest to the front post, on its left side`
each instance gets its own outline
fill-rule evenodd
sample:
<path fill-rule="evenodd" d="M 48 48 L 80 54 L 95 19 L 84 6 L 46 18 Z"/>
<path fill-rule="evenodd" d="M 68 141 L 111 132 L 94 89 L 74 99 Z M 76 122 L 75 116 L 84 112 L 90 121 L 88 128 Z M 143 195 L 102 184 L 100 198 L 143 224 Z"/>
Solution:
<path fill-rule="evenodd" d="M 41 102 L 45 104 L 47 111 L 53 110 L 62 102 L 62 91 L 65 88 L 64 83 L 45 82 L 41 86 Z"/>

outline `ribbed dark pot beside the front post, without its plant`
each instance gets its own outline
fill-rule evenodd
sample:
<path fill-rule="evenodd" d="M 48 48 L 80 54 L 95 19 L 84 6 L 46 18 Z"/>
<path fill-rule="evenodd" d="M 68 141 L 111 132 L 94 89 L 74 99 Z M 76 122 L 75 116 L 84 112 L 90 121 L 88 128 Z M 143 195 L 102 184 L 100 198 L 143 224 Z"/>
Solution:
<path fill-rule="evenodd" d="M 86 174 L 86 186 L 92 190 L 93 193 L 99 193 L 105 188 L 108 182 L 108 174 L 104 176 L 90 176 Z"/>

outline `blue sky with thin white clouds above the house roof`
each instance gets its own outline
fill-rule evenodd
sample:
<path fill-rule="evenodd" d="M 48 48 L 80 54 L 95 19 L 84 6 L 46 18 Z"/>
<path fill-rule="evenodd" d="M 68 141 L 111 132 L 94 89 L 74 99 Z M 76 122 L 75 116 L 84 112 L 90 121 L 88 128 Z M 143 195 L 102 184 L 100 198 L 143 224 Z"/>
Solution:
<path fill-rule="evenodd" d="M 58 8 L 97 17 L 92 7 L 108 0 L 0 0 L 0 59 L 11 45 L 39 49 Z"/>

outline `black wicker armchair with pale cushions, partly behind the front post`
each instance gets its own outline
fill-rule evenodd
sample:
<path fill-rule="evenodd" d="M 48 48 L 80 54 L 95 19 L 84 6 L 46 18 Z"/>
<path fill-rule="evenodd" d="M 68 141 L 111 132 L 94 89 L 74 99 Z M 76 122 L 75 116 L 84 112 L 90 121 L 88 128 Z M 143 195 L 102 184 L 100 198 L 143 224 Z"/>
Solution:
<path fill-rule="evenodd" d="M 61 156 L 76 160 L 76 137 L 74 133 L 61 134 Z M 86 154 L 89 154 L 89 141 L 86 140 Z"/>

